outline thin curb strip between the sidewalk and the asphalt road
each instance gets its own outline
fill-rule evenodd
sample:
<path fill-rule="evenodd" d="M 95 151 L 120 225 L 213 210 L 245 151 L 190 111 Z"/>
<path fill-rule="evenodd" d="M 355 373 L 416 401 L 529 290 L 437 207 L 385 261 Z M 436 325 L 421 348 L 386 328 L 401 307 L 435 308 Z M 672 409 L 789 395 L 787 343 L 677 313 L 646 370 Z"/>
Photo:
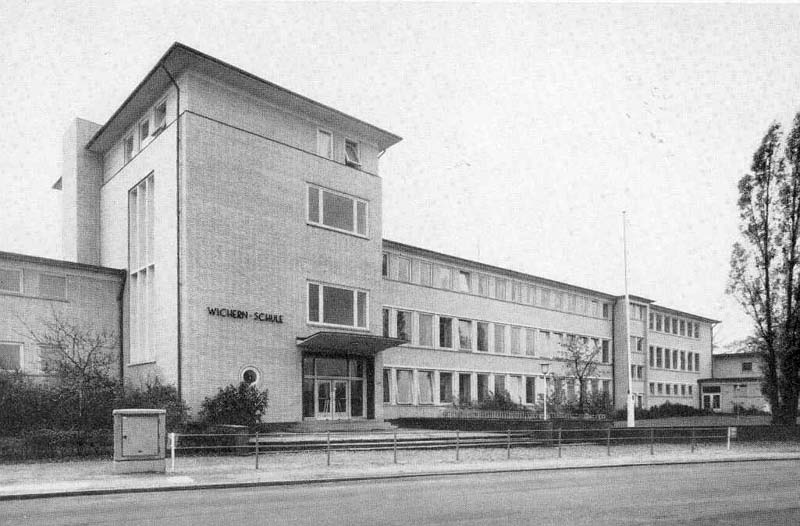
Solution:
<path fill-rule="evenodd" d="M 251 482 L 219 482 L 219 483 L 199 483 L 181 484 L 163 487 L 131 487 L 115 489 L 86 489 L 74 491 L 54 491 L 48 493 L 20 493 L 16 495 L 0 495 L 0 502 L 14 500 L 33 500 L 50 499 L 60 497 L 81 497 L 96 495 L 120 495 L 125 493 L 157 493 L 167 491 L 191 491 L 205 489 L 234 489 L 234 488 L 255 488 L 255 487 L 276 487 L 276 486 L 300 486 L 312 484 L 333 484 L 341 482 L 365 482 L 376 480 L 392 479 L 413 479 L 431 478 L 448 476 L 465 476 L 478 474 L 495 473 L 525 473 L 534 471 L 575 471 L 581 469 L 603 469 L 603 468 L 626 468 L 626 467 L 645 467 L 645 466 L 678 466 L 689 464 L 730 464 L 736 462 L 783 462 L 788 460 L 800 460 L 800 454 L 789 454 L 779 458 L 764 457 L 742 457 L 742 458 L 722 458 L 722 459 L 703 459 L 703 460 L 665 460 L 650 462 L 625 462 L 622 464 L 595 464 L 589 466 L 543 466 L 543 467 L 524 467 L 524 468 L 486 468 L 486 469 L 467 469 L 461 471 L 423 471 L 419 473 L 391 473 L 385 475 L 356 475 L 352 477 L 330 477 L 321 479 L 298 479 L 298 480 L 268 480 Z"/>

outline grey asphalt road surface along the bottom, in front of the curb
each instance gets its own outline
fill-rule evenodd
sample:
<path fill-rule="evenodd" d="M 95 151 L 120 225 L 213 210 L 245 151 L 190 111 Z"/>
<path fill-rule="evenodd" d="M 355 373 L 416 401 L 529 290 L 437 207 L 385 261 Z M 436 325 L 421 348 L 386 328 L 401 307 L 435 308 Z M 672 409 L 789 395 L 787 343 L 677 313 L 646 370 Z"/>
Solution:
<path fill-rule="evenodd" d="M 800 524 L 800 461 L 642 466 L 0 502 L 0 523 Z"/>

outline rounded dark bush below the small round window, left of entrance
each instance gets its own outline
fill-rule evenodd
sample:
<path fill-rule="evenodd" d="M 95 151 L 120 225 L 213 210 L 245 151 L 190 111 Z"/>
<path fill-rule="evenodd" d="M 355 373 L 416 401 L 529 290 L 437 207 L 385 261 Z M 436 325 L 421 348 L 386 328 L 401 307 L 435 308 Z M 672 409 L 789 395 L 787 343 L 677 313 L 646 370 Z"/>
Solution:
<path fill-rule="evenodd" d="M 200 420 L 206 425 L 233 424 L 253 427 L 269 405 L 267 390 L 259 391 L 254 385 L 241 382 L 220 389 L 216 395 L 206 397 L 200 410 Z"/>

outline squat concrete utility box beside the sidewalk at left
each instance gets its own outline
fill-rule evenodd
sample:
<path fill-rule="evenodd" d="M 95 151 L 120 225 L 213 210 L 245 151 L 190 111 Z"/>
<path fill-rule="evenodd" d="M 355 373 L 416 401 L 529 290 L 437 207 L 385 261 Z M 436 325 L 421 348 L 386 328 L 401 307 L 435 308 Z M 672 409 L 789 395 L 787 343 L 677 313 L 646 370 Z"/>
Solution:
<path fill-rule="evenodd" d="M 166 431 L 163 409 L 115 409 L 114 471 L 166 471 Z"/>

